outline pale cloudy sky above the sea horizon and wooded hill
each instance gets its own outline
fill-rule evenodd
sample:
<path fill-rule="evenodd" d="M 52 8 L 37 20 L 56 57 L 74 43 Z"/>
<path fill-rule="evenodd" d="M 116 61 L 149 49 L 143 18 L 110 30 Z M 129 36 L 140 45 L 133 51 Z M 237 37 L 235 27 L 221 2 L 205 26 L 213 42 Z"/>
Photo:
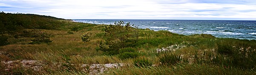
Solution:
<path fill-rule="evenodd" d="M 256 20 L 256 1 L 0 0 L 0 11 L 64 19 Z"/>

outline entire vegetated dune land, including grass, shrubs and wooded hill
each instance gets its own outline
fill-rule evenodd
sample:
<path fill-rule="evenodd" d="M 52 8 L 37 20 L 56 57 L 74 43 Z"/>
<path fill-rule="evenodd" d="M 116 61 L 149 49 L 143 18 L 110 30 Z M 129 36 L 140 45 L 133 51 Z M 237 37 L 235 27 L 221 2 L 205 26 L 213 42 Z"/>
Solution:
<path fill-rule="evenodd" d="M 0 75 L 255 75 L 256 40 L 0 13 Z M 109 66 L 111 65 L 111 66 Z"/>

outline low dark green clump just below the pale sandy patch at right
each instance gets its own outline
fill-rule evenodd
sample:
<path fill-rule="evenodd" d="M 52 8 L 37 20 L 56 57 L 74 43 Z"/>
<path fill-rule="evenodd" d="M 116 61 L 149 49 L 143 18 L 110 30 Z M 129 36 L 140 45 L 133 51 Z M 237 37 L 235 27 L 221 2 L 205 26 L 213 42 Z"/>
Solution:
<path fill-rule="evenodd" d="M 180 55 L 176 54 L 164 54 L 163 56 L 159 57 L 159 61 L 164 65 L 172 65 L 176 63 L 180 63 L 182 58 Z"/>

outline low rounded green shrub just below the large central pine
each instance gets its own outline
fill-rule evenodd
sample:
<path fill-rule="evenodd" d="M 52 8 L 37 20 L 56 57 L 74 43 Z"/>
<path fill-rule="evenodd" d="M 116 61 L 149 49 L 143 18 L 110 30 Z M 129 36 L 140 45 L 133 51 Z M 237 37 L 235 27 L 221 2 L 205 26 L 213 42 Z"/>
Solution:
<path fill-rule="evenodd" d="M 138 55 L 139 55 L 138 53 L 125 52 L 125 53 L 119 54 L 118 57 L 121 59 L 127 59 L 127 58 L 137 58 Z"/>

